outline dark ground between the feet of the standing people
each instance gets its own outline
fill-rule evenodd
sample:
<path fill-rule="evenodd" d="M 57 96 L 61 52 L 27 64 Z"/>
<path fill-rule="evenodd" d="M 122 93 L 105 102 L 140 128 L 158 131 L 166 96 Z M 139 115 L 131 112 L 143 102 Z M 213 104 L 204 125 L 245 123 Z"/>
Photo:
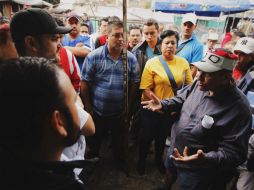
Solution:
<path fill-rule="evenodd" d="M 166 148 L 165 148 L 166 150 Z M 156 169 L 154 154 L 147 159 L 146 173 L 138 175 L 136 171 L 137 149 L 128 150 L 129 176 L 122 172 L 114 163 L 110 146 L 104 144 L 101 159 L 96 164 L 89 178 L 91 190 L 152 190 L 163 182 L 163 175 Z M 173 190 L 175 190 L 174 188 Z"/>

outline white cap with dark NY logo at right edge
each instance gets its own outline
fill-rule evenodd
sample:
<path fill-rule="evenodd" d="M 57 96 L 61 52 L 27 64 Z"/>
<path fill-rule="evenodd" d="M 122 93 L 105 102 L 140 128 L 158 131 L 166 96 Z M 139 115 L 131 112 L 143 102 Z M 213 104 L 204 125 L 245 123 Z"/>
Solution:
<path fill-rule="evenodd" d="M 254 39 L 249 37 L 240 38 L 233 48 L 234 53 L 235 51 L 241 51 L 246 54 L 254 53 Z"/>

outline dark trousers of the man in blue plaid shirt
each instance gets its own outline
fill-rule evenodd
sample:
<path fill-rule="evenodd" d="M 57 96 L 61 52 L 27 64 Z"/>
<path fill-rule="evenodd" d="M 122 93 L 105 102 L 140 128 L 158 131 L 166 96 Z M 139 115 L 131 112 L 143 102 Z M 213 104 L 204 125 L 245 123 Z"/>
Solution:
<path fill-rule="evenodd" d="M 90 155 L 99 156 L 102 139 L 110 132 L 113 156 L 117 161 L 124 162 L 127 150 L 128 126 L 124 124 L 123 117 L 102 117 L 94 115 L 95 134 L 87 138 Z"/>

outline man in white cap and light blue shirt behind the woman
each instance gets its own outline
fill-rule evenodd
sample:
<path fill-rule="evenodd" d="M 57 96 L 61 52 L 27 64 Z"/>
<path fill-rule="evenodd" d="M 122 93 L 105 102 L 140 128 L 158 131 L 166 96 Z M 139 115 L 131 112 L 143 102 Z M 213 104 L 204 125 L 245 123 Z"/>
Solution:
<path fill-rule="evenodd" d="M 178 43 L 178 56 L 184 57 L 189 64 L 200 61 L 203 57 L 203 44 L 198 41 L 193 33 L 197 27 L 197 17 L 194 13 L 184 15 L 181 25 L 181 36 Z M 197 72 L 195 67 L 192 67 L 192 77 L 194 78 Z"/>

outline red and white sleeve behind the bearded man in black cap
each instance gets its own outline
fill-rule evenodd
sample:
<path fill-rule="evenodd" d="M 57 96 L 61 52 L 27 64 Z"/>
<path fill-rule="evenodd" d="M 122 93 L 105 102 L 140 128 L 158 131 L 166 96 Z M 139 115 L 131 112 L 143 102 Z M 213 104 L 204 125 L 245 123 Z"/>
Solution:
<path fill-rule="evenodd" d="M 67 54 L 67 50 L 62 47 L 59 51 L 60 55 L 60 65 L 68 75 L 74 89 L 79 92 L 80 89 L 80 74 L 78 71 L 78 65 L 75 63 L 75 57 L 71 54 L 71 57 Z M 71 60 L 71 62 L 69 61 Z M 72 65 L 70 65 L 72 64 Z"/>

